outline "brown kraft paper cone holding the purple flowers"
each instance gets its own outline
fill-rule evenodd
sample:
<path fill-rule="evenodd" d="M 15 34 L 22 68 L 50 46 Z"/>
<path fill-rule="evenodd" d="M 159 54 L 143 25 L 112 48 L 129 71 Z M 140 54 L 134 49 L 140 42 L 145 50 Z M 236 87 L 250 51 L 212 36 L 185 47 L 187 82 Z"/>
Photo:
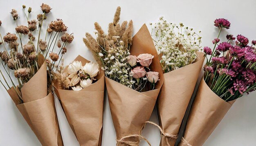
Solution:
<path fill-rule="evenodd" d="M 234 102 L 222 100 L 202 78 L 179 146 L 202 146 Z"/>

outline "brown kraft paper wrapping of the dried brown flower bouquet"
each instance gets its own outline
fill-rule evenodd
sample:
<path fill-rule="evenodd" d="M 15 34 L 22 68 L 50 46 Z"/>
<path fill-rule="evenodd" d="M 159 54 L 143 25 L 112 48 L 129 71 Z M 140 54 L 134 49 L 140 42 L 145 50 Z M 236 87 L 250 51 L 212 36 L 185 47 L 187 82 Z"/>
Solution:
<path fill-rule="evenodd" d="M 21 88 L 24 103 L 17 102 L 18 95 L 13 87 L 8 90 L 8 93 L 43 146 L 63 146 L 54 97 L 51 93 L 47 95 L 45 62 Z"/>

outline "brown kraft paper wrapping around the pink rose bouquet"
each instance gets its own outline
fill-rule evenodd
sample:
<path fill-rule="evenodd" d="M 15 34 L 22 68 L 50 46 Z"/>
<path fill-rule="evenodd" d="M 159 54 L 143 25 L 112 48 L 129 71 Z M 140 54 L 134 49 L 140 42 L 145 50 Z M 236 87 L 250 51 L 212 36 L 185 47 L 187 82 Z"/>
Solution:
<path fill-rule="evenodd" d="M 154 55 L 153 62 L 150 64 L 149 68 L 150 71 L 159 72 L 160 80 L 157 82 L 154 90 L 138 92 L 105 77 L 110 111 L 117 139 L 121 139 L 128 135 L 141 134 L 144 122 L 149 120 L 158 93 L 164 82 L 161 64 L 157 57 L 157 51 L 146 24 L 144 24 L 132 38 L 130 53 L 131 55 L 136 56 L 141 53 Z M 139 142 L 138 137 L 130 137 L 125 140 Z M 117 143 L 117 145 L 127 146 L 127 144 L 124 143 Z"/>

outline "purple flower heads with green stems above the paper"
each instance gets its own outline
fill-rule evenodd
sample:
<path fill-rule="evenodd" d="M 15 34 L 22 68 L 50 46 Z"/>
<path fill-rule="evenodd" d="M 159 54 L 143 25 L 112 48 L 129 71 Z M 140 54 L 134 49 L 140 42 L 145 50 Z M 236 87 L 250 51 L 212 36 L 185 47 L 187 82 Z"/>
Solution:
<path fill-rule="evenodd" d="M 216 19 L 214 26 L 229 29 L 230 22 Z M 207 72 L 204 80 L 207 84 L 214 83 L 211 85 L 214 93 L 225 101 L 231 101 L 256 89 L 256 40 L 249 46 L 249 39 L 243 35 L 235 38 L 230 34 L 226 38 L 228 41 L 220 44 L 217 44 L 220 42 L 219 38 L 213 39 L 213 51 L 204 47 L 204 53 L 211 55 L 204 67 Z M 229 42 L 232 40 L 236 40 L 235 45 Z"/>

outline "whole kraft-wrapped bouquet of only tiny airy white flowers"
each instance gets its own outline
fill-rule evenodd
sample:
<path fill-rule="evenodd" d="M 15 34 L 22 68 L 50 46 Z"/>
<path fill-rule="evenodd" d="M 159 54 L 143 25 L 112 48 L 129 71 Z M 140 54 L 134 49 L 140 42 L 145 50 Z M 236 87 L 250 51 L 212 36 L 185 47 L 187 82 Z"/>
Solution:
<path fill-rule="evenodd" d="M 151 28 L 164 73 L 157 98 L 160 146 L 174 146 L 205 56 L 199 52 L 201 37 L 184 24 L 160 17 Z"/>

